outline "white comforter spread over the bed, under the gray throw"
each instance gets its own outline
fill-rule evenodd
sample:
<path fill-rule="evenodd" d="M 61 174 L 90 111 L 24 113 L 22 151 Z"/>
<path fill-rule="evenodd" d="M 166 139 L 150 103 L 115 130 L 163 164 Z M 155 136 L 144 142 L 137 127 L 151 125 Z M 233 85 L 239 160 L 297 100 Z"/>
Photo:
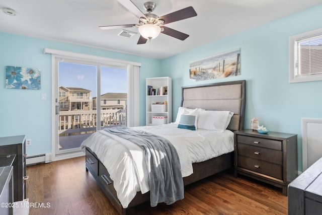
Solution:
<path fill-rule="evenodd" d="M 209 130 L 187 130 L 177 128 L 177 124 L 132 127 L 171 141 L 177 149 L 182 176 L 193 173 L 192 163 L 209 160 L 233 151 L 233 132 L 225 130 L 216 132 Z M 122 206 L 127 208 L 136 192 L 149 191 L 148 174 L 144 165 L 144 154 L 135 144 L 110 134 L 104 130 L 97 131 L 81 145 L 90 148 L 104 164 Z"/>

